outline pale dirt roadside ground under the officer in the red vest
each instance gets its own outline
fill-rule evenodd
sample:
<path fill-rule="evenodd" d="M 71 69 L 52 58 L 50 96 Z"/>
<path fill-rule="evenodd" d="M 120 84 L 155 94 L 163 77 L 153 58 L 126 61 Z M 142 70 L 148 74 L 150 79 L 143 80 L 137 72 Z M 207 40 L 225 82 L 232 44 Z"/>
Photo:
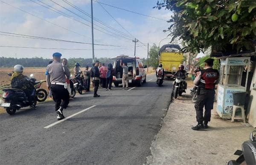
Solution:
<path fill-rule="evenodd" d="M 194 85 L 186 79 L 186 93 L 178 96 L 169 106 L 163 118 L 163 126 L 151 145 L 148 165 L 227 165 L 236 150 L 241 150 L 242 142 L 248 140 L 255 130 L 241 120 L 231 122 L 221 119 L 216 113 L 216 102 L 212 110 L 209 129 L 194 131 L 196 125 L 194 103 L 189 89 Z"/>

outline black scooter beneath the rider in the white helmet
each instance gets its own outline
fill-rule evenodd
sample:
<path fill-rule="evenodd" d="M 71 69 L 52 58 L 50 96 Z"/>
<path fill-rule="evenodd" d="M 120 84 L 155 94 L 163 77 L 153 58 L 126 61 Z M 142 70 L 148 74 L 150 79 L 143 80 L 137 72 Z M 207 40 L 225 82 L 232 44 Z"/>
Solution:
<path fill-rule="evenodd" d="M 12 74 L 9 73 L 9 76 Z M 35 78 L 28 78 L 28 83 L 31 83 L 31 85 L 36 84 Z M 3 100 L 0 104 L 0 107 L 3 107 L 6 109 L 6 112 L 10 115 L 15 114 L 17 110 L 19 110 L 22 107 L 27 106 L 35 106 L 37 103 L 37 99 L 34 100 L 34 102 L 29 102 L 28 98 L 26 97 L 26 94 L 23 90 L 17 89 L 17 88 L 5 88 L 3 89 Z M 36 97 L 36 90 L 33 91 L 32 95 Z"/>

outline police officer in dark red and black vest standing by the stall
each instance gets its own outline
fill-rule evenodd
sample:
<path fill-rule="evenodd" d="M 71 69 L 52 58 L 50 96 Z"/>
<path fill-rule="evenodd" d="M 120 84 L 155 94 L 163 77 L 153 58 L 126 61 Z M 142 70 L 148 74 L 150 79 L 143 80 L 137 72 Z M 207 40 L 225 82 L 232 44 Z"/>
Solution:
<path fill-rule="evenodd" d="M 208 128 L 208 122 L 211 119 L 211 110 L 213 109 L 215 84 L 219 81 L 219 72 L 212 68 L 213 59 L 208 58 L 204 61 L 205 69 L 201 70 L 194 80 L 198 85 L 198 96 L 195 102 L 196 120 L 198 125 L 193 126 L 193 130 Z M 203 117 L 203 108 L 204 117 Z"/>

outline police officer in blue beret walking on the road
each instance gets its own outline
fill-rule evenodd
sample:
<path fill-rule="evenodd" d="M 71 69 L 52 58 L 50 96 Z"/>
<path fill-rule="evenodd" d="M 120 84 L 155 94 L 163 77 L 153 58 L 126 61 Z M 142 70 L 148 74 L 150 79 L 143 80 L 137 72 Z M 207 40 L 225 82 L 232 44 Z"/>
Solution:
<path fill-rule="evenodd" d="M 62 65 L 61 54 L 56 52 L 52 54 L 53 62 L 47 66 L 47 87 L 51 89 L 53 100 L 55 101 L 55 111 L 57 120 L 64 119 L 63 110 L 69 103 L 69 93 L 65 83 L 66 76 L 70 77 L 70 71 L 65 65 Z"/>

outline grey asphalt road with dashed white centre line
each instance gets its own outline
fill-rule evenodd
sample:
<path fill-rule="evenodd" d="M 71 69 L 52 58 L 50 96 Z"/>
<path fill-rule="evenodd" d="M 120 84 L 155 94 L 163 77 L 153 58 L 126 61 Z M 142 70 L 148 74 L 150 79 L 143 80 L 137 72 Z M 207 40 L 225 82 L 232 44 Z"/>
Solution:
<path fill-rule="evenodd" d="M 99 89 L 99 98 L 92 91 L 77 94 L 64 116 L 80 113 L 52 126 L 53 101 L 0 114 L 0 164 L 145 163 L 171 100 L 172 81 L 158 87 L 155 80 L 148 75 L 147 83 L 129 91 Z"/>

